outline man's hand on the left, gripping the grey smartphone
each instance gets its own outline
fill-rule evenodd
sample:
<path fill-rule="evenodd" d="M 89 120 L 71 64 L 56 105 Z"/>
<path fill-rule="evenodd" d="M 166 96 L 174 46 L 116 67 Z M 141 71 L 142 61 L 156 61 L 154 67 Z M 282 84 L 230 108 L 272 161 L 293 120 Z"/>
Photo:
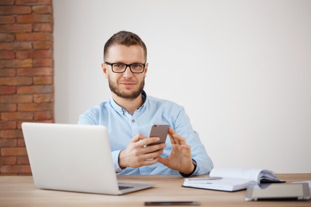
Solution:
<path fill-rule="evenodd" d="M 141 167 L 153 165 L 157 162 L 158 156 L 163 153 L 165 143 L 146 146 L 160 140 L 158 137 L 148 138 L 142 134 L 137 134 L 130 141 L 126 149 L 119 154 L 119 166 L 125 167 Z M 149 160 L 152 159 L 152 160 Z"/>

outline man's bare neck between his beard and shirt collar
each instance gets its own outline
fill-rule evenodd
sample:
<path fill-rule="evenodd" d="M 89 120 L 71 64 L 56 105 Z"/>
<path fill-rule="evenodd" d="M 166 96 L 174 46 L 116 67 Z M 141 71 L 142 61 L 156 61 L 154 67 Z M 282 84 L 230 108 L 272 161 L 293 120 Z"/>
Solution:
<path fill-rule="evenodd" d="M 142 98 L 142 94 L 140 94 L 137 98 L 135 99 L 126 99 L 126 98 L 121 98 L 117 96 L 115 93 L 112 93 L 112 98 L 113 100 L 122 108 L 130 112 L 131 114 L 134 114 L 136 109 L 141 107 L 144 103 L 144 100 Z"/>

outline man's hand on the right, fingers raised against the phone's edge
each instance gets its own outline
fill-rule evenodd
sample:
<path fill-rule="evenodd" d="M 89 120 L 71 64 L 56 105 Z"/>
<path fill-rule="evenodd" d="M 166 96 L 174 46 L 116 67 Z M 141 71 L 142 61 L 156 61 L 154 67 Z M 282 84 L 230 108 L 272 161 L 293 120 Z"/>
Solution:
<path fill-rule="evenodd" d="M 187 145 L 186 139 L 179 136 L 172 128 L 169 128 L 168 136 L 172 143 L 172 151 L 166 158 L 159 156 L 158 161 L 170 169 L 184 174 L 191 173 L 194 165 L 192 163 L 190 145 Z"/>

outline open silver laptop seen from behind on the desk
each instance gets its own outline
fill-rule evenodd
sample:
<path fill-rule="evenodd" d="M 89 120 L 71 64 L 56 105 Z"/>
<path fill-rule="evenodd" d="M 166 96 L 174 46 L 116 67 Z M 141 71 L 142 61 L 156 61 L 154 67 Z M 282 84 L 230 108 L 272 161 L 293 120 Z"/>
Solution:
<path fill-rule="evenodd" d="M 122 195 L 155 185 L 118 183 L 107 128 L 22 123 L 37 188 Z"/>

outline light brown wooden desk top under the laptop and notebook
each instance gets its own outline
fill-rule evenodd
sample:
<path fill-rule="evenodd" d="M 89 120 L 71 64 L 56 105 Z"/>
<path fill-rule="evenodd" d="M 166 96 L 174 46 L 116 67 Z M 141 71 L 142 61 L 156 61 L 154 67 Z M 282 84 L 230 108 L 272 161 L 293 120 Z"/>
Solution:
<path fill-rule="evenodd" d="M 311 174 L 279 174 L 287 182 L 311 180 Z M 119 182 L 156 184 L 123 196 L 36 189 L 31 176 L 0 176 L 0 207 L 143 207 L 146 201 L 199 201 L 202 207 L 311 207 L 311 201 L 244 202 L 245 191 L 222 192 L 181 187 L 175 175 L 122 175 Z"/>

